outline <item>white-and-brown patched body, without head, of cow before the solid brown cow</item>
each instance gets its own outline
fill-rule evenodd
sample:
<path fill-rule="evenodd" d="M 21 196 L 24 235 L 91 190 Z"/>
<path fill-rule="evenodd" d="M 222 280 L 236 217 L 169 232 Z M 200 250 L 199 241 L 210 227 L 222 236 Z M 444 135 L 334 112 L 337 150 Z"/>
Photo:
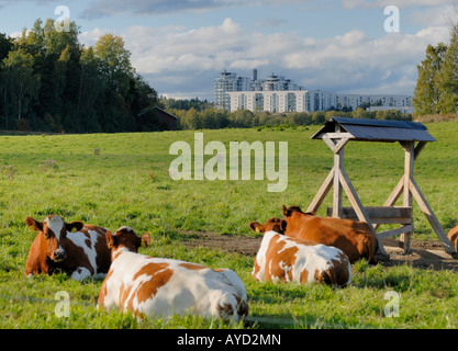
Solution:
<path fill-rule="evenodd" d="M 252 276 L 261 282 L 345 286 L 351 282 L 351 265 L 348 257 L 335 247 L 269 230 L 264 234 Z"/>

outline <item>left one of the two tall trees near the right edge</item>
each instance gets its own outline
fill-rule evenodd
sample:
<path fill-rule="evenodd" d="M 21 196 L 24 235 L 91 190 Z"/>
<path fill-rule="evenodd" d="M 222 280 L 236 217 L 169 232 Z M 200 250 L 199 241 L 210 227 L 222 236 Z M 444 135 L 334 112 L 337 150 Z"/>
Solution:
<path fill-rule="evenodd" d="M 426 58 L 416 66 L 418 79 L 414 90 L 413 105 L 417 115 L 439 112 L 442 90 L 438 81 L 446 50 L 447 46 L 444 43 L 437 46 L 428 45 Z"/>

